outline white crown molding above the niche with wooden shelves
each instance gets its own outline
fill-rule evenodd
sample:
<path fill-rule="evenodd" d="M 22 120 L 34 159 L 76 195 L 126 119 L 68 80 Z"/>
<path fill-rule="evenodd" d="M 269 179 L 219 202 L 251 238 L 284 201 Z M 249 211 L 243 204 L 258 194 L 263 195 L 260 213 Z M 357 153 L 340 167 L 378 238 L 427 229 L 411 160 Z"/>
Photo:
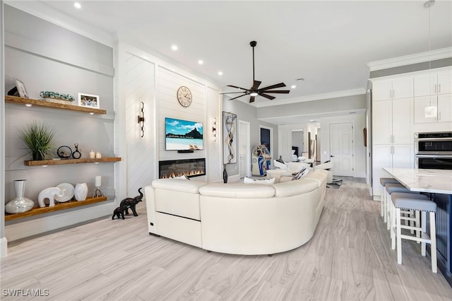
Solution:
<path fill-rule="evenodd" d="M 114 47 L 114 42 L 117 40 L 114 34 L 85 25 L 75 18 L 62 14 L 60 11 L 40 1 L 4 1 L 4 4 L 17 8 L 20 11 L 25 11 L 25 13 L 30 13 L 32 16 L 46 20 L 61 28 L 71 30 L 73 33 L 88 37 L 109 47 Z"/>

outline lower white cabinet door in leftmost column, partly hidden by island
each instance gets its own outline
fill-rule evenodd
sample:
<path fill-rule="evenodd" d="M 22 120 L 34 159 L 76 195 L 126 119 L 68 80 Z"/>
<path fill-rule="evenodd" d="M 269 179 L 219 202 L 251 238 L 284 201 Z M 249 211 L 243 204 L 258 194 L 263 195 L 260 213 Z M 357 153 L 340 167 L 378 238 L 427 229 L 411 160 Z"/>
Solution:
<path fill-rule="evenodd" d="M 372 194 L 379 196 L 380 178 L 388 177 L 388 173 L 383 167 L 391 167 L 391 149 L 389 145 L 380 145 L 372 147 Z"/>

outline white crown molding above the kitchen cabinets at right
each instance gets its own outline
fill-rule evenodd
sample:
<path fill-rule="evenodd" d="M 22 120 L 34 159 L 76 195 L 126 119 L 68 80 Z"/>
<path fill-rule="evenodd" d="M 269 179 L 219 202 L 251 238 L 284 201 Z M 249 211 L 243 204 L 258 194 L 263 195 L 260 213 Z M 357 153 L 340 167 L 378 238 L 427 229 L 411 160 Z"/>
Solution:
<path fill-rule="evenodd" d="M 429 52 L 405 55 L 404 57 L 394 57 L 393 59 L 383 59 L 381 61 L 371 61 L 367 63 L 370 71 L 389 69 L 411 64 L 422 63 L 424 61 L 435 61 L 436 59 L 447 59 L 452 57 L 452 47 L 441 48 Z"/>

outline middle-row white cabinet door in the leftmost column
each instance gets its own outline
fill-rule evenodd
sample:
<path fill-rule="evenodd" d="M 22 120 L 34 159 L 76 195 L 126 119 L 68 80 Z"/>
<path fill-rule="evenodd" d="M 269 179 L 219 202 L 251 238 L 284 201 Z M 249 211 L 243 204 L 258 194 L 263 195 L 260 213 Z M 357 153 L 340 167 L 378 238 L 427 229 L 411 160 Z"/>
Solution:
<path fill-rule="evenodd" d="M 391 143 L 392 100 L 372 102 L 372 141 L 374 144 Z"/>

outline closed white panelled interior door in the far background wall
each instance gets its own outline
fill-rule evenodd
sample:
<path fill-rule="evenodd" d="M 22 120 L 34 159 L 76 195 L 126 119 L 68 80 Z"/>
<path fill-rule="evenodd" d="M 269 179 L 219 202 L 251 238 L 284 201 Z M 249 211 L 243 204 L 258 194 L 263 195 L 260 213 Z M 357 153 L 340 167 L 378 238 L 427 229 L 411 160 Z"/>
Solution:
<path fill-rule="evenodd" d="M 330 156 L 333 175 L 353 176 L 353 123 L 330 124 Z"/>

